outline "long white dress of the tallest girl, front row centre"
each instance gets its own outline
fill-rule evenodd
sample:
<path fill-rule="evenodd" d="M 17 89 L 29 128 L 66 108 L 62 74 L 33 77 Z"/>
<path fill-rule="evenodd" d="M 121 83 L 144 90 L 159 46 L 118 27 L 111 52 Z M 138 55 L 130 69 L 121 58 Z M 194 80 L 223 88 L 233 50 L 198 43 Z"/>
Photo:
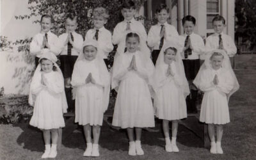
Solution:
<path fill-rule="evenodd" d="M 119 81 L 118 94 L 116 97 L 115 110 L 112 125 L 127 127 L 154 127 L 154 109 L 150 90 L 148 88 L 148 73 L 140 51 L 125 52 L 118 56 L 116 76 L 113 79 Z M 138 71 L 128 71 L 132 56 L 136 57 Z M 149 59 L 149 58 L 148 58 Z M 152 63 L 152 61 L 148 61 Z"/>

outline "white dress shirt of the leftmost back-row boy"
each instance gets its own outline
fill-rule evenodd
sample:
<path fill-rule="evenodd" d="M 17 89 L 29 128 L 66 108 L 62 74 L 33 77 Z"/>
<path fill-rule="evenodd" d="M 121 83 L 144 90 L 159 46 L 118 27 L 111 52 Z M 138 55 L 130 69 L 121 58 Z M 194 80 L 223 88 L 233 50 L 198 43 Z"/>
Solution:
<path fill-rule="evenodd" d="M 32 41 L 30 43 L 30 47 L 29 47 L 30 53 L 38 58 L 40 58 L 40 56 L 42 54 L 41 51 L 42 51 L 44 35 L 45 35 L 45 33 L 37 33 L 33 37 Z M 51 33 L 51 31 L 48 31 L 47 32 L 47 42 L 50 45 L 50 48 L 49 48 L 50 51 L 52 51 L 56 56 L 58 54 L 60 54 L 61 48 L 59 45 L 58 36 Z"/>

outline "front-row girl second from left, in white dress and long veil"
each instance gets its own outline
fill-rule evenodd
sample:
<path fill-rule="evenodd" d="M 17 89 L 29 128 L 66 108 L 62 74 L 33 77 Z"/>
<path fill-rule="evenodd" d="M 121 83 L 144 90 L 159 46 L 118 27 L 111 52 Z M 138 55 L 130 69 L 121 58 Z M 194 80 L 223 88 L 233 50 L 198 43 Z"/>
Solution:
<path fill-rule="evenodd" d="M 75 88 L 75 122 L 83 125 L 86 150 L 83 156 L 99 156 L 99 136 L 103 113 L 108 109 L 110 76 L 96 40 L 86 40 L 74 65 L 71 84 Z M 92 134 L 93 133 L 93 144 Z"/>

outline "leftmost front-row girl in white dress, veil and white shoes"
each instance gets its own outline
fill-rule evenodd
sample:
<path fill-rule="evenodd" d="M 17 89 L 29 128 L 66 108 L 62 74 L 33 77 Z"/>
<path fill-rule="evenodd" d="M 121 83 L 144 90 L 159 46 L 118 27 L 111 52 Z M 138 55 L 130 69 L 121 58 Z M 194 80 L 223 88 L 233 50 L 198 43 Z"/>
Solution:
<path fill-rule="evenodd" d="M 30 85 L 29 104 L 34 106 L 34 111 L 29 124 L 43 131 L 45 152 L 42 158 L 57 156 L 58 129 L 65 127 L 63 113 L 67 112 L 67 100 L 56 61 L 51 51 L 44 50 Z"/>

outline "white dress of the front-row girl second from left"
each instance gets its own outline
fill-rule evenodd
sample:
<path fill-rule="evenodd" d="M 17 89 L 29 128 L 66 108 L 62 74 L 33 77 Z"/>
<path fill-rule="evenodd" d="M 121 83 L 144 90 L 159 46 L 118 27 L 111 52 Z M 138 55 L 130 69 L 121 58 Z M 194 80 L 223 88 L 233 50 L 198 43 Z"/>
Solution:
<path fill-rule="evenodd" d="M 92 73 L 97 84 L 85 83 L 88 74 Z M 79 125 L 102 125 L 104 114 L 104 79 L 96 60 L 80 60 L 74 65 L 72 86 L 76 87 L 76 117 Z"/>

